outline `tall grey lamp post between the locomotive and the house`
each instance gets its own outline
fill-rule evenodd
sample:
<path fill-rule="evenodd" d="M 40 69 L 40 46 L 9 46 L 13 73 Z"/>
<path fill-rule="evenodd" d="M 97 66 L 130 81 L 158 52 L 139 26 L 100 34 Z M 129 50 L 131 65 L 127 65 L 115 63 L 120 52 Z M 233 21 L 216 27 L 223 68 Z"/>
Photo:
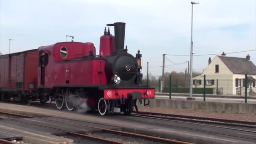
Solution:
<path fill-rule="evenodd" d="M 193 39 L 192 39 L 192 30 L 193 30 L 193 5 L 199 4 L 199 2 L 191 2 L 192 5 L 192 14 L 191 14 L 191 42 L 190 42 L 190 72 L 189 72 L 189 97 L 187 97 L 187 100 L 195 100 L 195 98 L 192 97 L 192 86 L 193 86 L 193 80 L 192 80 L 192 54 L 193 53 Z"/>

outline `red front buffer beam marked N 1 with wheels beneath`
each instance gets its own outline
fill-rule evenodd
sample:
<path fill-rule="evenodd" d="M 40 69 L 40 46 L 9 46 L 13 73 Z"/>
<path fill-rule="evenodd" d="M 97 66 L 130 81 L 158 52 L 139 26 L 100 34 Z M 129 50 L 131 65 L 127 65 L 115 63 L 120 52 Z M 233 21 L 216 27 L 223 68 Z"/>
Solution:
<path fill-rule="evenodd" d="M 109 112 L 114 113 L 114 108 L 120 108 L 120 111 L 125 115 L 130 115 L 136 105 L 137 100 L 144 106 L 150 102 L 149 99 L 155 98 L 155 88 L 106 88 L 104 89 L 104 98 L 101 98 L 98 103 L 99 113 L 107 115 Z"/>

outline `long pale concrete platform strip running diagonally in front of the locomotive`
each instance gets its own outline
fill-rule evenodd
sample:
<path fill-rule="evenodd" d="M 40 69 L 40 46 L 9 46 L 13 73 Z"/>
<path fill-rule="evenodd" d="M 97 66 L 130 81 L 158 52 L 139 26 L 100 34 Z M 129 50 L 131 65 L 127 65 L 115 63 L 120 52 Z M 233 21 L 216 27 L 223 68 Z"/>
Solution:
<path fill-rule="evenodd" d="M 23 105 L 14 105 L 14 104 L 4 104 L 0 103 L 0 111 L 5 112 L 14 112 L 14 113 L 23 113 L 29 115 L 46 115 L 52 117 L 63 117 L 68 118 L 70 120 L 77 120 L 77 122 L 89 122 L 92 124 L 105 124 L 105 125 L 112 125 L 115 127 L 123 127 L 127 131 L 134 131 L 141 134 L 149 134 L 160 136 L 164 138 L 176 139 L 179 141 L 187 141 L 192 142 L 195 144 L 255 144 L 254 139 L 256 139 L 255 134 L 247 133 L 245 131 L 230 131 L 229 129 L 219 129 L 217 130 L 214 128 L 216 132 L 223 132 L 223 133 L 233 133 L 239 134 L 243 133 L 243 136 L 248 134 L 249 138 L 253 139 L 245 139 L 235 136 L 225 136 L 221 134 L 215 134 L 211 132 L 205 132 L 208 130 L 213 129 L 212 127 L 205 127 L 199 126 L 194 124 L 193 127 L 195 130 L 189 130 L 187 127 L 191 127 L 191 125 L 183 125 L 177 126 L 173 122 L 166 122 L 163 123 L 162 121 L 153 120 L 149 121 L 148 119 L 144 118 L 137 118 L 131 119 L 129 116 L 116 116 L 116 115 L 109 115 L 107 117 L 103 117 L 100 115 L 85 115 L 85 114 L 77 114 L 74 112 L 67 112 L 67 111 L 60 111 L 60 110 L 52 110 L 52 109 L 45 109 L 39 107 L 30 107 L 30 106 L 23 106 Z M 123 118 L 120 118 L 123 117 Z M 152 124 L 154 123 L 154 124 Z M 180 128 L 181 127 L 181 128 Z M 185 128 L 183 128 L 185 127 Z M 202 131 L 197 131 L 197 128 L 203 128 Z M 213 132 L 214 132 L 213 131 Z"/>

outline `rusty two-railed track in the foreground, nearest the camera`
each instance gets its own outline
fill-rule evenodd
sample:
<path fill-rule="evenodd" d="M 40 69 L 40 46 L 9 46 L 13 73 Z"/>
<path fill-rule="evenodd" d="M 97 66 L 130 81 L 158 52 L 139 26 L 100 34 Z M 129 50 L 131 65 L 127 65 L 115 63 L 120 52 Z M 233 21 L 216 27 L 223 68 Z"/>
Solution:
<path fill-rule="evenodd" d="M 19 115 L 19 114 L 15 114 L 15 113 L 9 113 L 9 112 L 0 112 L 2 114 L 6 114 L 6 115 L 15 115 L 15 116 L 20 116 L 20 117 L 28 117 L 28 118 L 37 118 L 37 119 L 41 119 L 41 120 L 50 120 L 50 121 L 54 121 L 54 122 L 59 122 L 59 123 L 64 123 L 64 124 L 71 124 L 71 125 L 77 125 L 77 126 L 82 126 L 82 127 L 88 127 L 88 128 L 96 128 L 96 129 L 100 129 L 102 131 L 106 131 L 106 132 L 111 132 L 111 133 L 118 133 L 118 134 L 123 134 L 123 135 L 128 135 L 128 136 L 135 136 L 135 137 L 139 137 L 139 138 L 143 138 L 143 139 L 150 139 L 153 141 L 160 141 L 160 142 L 164 142 L 164 143 L 168 143 L 168 144 L 191 144 L 191 143 L 187 143 L 187 142 L 183 142 L 183 141 L 175 141 L 175 140 L 171 140 L 171 139 L 163 139 L 163 138 L 159 138 L 159 137 L 155 137 L 155 136 L 147 136 L 147 135 L 141 135 L 141 134 L 137 134 L 137 133 L 130 133 L 130 132 L 125 132 L 125 131 L 117 131 L 117 130 L 112 130 L 112 129 L 107 129 L 107 128 L 99 128 L 99 127 L 95 127 L 95 126 L 89 126 L 89 125 L 81 125 L 81 124 L 76 124 L 76 123 L 68 123 L 68 122 L 64 122 L 61 120 L 51 120 L 51 119 L 47 119 L 47 118 L 42 118 L 42 117 L 33 117 L 33 116 L 28 116 L 28 115 Z M 58 118 L 58 117 L 57 117 Z M 44 125 L 38 125 L 38 124 L 34 124 L 34 123 L 28 123 L 28 122 L 22 122 L 19 120 L 13 120 L 13 119 L 8 119 L 8 118 L 4 118 L 6 120 L 11 120 L 11 121 L 15 121 L 15 122 L 19 122 L 19 123 L 26 123 L 29 125 L 36 125 L 36 126 L 40 126 L 40 127 L 44 127 L 44 128 L 51 128 L 48 126 L 44 126 Z M 58 131 L 63 131 L 69 134 L 74 134 L 74 135 L 78 135 L 78 136 L 84 136 L 86 138 L 90 138 L 90 139 L 96 139 L 99 141 L 103 141 L 104 143 L 112 143 L 112 144 L 123 144 L 117 141 L 111 141 L 111 140 L 106 140 L 106 139 L 101 139 L 101 138 L 97 138 L 95 136 L 88 136 L 85 134 L 80 134 L 80 133 L 74 133 L 71 131 L 64 131 L 58 128 L 51 128 L 54 130 L 58 130 Z"/>

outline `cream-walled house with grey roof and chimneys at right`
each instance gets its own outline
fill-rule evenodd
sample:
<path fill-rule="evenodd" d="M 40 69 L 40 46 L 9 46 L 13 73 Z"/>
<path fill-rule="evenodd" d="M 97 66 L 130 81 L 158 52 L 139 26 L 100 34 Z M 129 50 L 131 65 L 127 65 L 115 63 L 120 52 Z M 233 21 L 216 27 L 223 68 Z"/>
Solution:
<path fill-rule="evenodd" d="M 206 79 L 206 88 L 213 88 L 213 93 L 227 95 L 245 94 L 245 74 L 248 76 L 248 95 L 256 96 L 256 66 L 246 58 L 228 57 L 223 53 L 208 60 L 208 67 L 202 74 L 193 77 L 193 88 L 203 88 L 203 76 Z"/>

